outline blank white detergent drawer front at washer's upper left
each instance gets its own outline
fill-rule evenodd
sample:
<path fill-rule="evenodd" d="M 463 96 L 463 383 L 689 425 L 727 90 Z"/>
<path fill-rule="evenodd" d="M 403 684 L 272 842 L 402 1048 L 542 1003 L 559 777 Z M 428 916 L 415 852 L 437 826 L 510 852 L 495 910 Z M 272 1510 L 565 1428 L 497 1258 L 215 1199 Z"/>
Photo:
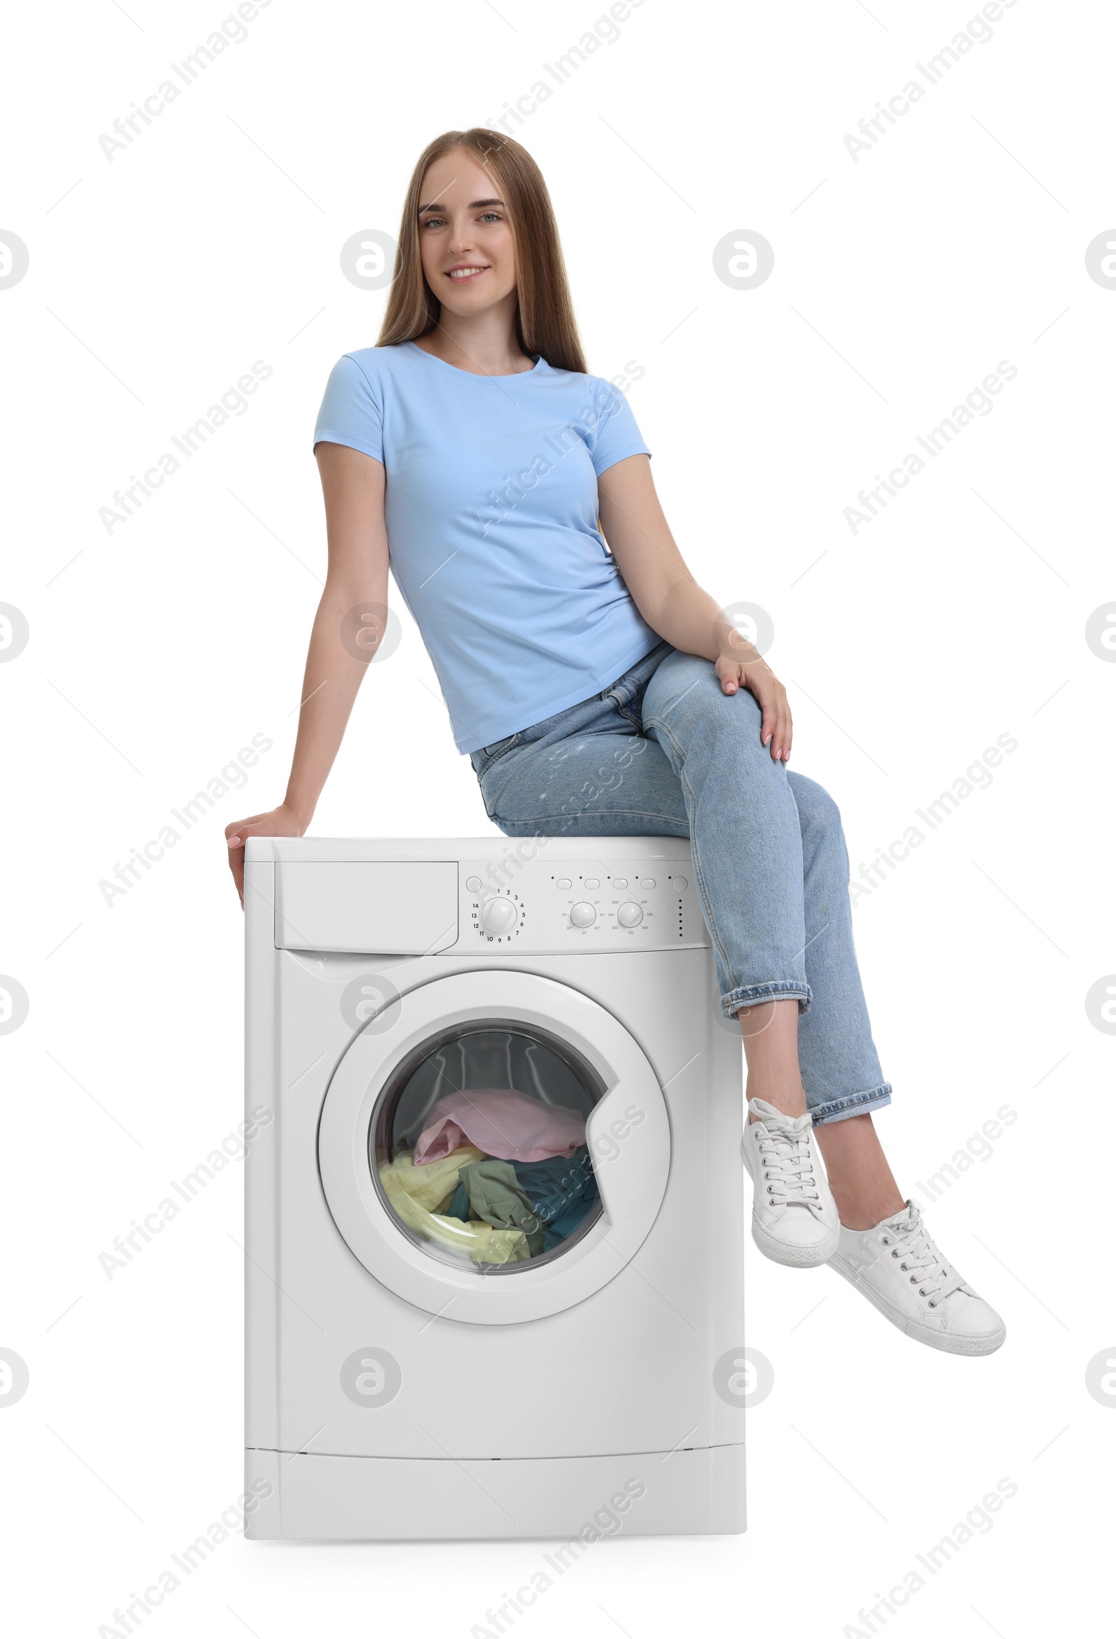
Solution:
<path fill-rule="evenodd" d="M 275 946 L 428 956 L 457 942 L 456 860 L 282 860 Z"/>

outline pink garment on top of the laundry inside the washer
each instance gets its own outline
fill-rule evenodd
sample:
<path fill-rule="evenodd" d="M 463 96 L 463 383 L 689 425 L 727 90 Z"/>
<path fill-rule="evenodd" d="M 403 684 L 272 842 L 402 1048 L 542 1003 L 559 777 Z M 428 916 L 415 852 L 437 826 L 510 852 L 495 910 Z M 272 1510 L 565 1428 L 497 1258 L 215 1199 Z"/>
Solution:
<path fill-rule="evenodd" d="M 415 1146 L 415 1165 L 452 1154 L 462 1133 L 500 1160 L 547 1160 L 572 1155 L 585 1142 L 585 1116 L 564 1105 L 542 1105 L 510 1087 L 447 1093 L 431 1111 Z"/>

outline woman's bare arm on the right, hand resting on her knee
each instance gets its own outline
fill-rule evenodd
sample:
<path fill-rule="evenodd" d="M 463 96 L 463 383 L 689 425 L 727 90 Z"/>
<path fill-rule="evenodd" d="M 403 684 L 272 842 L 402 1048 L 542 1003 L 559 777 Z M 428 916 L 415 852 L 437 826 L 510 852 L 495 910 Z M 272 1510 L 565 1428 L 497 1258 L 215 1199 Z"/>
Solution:
<path fill-rule="evenodd" d="M 726 695 L 747 688 L 762 708 L 762 742 L 770 744 L 777 762 L 787 762 L 793 738 L 787 690 L 687 569 L 659 505 L 647 456 L 628 456 L 608 467 L 597 493 L 601 533 L 642 618 L 675 649 L 713 661 Z"/>

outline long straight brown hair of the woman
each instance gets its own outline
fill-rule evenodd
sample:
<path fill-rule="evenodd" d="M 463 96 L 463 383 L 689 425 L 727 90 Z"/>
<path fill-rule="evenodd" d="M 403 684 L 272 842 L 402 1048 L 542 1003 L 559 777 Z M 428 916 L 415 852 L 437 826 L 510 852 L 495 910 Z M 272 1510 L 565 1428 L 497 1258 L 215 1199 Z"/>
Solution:
<path fill-rule="evenodd" d="M 441 316 L 442 305 L 423 275 L 418 207 L 428 169 L 456 148 L 465 149 L 483 166 L 508 207 L 508 225 L 515 239 L 519 346 L 531 357 L 546 359 L 556 370 L 577 370 L 585 375 L 585 354 L 577 334 L 562 244 L 542 172 L 526 148 L 483 126 L 474 126 L 470 131 L 444 131 L 423 151 L 415 166 L 403 203 L 400 247 L 377 346 L 390 347 L 400 341 L 415 341 L 431 331 Z"/>

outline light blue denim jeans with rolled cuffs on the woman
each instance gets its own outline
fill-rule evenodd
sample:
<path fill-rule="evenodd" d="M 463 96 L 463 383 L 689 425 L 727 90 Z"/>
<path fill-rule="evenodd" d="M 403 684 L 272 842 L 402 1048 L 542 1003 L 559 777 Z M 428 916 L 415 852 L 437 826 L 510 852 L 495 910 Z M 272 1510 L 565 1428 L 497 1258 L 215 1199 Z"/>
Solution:
<path fill-rule="evenodd" d="M 834 800 L 760 744 L 754 695 L 659 644 L 615 683 L 472 752 L 505 836 L 688 836 L 721 1008 L 798 1001 L 814 1124 L 891 1101 L 852 947 Z"/>

